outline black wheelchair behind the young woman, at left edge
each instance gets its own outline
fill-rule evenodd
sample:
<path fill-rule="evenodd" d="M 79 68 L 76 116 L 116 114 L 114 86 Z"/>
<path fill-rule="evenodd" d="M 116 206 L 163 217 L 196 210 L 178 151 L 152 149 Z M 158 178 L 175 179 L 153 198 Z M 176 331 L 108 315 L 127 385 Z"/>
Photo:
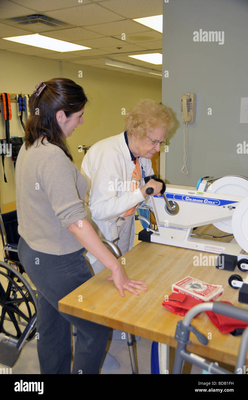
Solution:
<path fill-rule="evenodd" d="M 4 262 L 0 261 L 0 364 L 12 367 L 36 334 L 37 297 L 18 258 L 17 212 L 0 214 Z"/>

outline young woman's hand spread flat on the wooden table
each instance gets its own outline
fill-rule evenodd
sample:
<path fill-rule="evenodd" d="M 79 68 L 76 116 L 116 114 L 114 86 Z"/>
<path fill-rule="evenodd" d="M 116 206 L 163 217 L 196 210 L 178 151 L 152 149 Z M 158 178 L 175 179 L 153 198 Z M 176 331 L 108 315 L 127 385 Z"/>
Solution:
<path fill-rule="evenodd" d="M 121 266 L 119 266 L 117 270 L 112 270 L 112 276 L 107 276 L 107 280 L 114 282 L 122 297 L 124 297 L 124 289 L 135 294 L 136 296 L 138 296 L 139 293 L 135 289 L 147 290 L 147 288 L 141 286 L 146 285 L 146 282 L 143 282 L 141 280 L 129 279 Z"/>

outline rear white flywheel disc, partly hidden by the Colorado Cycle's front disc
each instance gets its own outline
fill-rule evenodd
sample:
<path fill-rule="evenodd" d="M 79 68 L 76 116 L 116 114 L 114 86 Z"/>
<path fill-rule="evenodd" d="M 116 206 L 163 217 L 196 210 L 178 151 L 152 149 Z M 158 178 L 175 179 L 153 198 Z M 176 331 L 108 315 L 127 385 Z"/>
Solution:
<path fill-rule="evenodd" d="M 246 197 L 248 196 L 248 179 L 243 176 L 238 175 L 228 175 L 223 178 L 215 180 L 211 186 L 208 188 L 207 192 L 228 194 L 230 196 Z M 243 201 L 242 201 L 243 202 Z M 241 204 L 241 202 L 240 202 Z M 237 206 L 239 208 L 240 204 Z M 234 213 L 236 212 L 234 211 Z M 233 217 L 234 218 L 234 217 Z M 222 230 L 223 232 L 233 233 L 232 219 L 227 221 L 215 222 L 213 224 L 216 228 Z M 236 235 L 234 234 L 235 239 Z M 237 239 L 236 239 L 237 240 Z M 237 240 L 238 242 L 238 240 Z M 240 244 L 238 242 L 238 244 Z M 241 246 L 241 244 L 240 244 Z"/>

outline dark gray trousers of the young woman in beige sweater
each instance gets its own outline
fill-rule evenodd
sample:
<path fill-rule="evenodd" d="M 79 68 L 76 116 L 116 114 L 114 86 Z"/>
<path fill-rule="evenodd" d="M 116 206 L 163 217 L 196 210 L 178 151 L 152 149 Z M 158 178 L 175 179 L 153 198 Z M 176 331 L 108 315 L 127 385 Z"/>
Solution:
<path fill-rule="evenodd" d="M 71 324 L 77 328 L 72 374 L 99 372 L 109 328 L 58 311 L 58 301 L 92 276 L 84 250 L 56 256 L 33 250 L 22 237 L 19 240 L 18 256 L 38 292 L 41 374 L 71 373 Z"/>

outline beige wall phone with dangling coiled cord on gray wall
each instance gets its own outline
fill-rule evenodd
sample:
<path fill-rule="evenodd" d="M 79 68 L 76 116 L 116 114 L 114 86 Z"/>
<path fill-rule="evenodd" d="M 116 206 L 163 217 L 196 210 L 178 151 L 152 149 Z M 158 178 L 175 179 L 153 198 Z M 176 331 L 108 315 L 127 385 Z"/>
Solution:
<path fill-rule="evenodd" d="M 185 124 L 183 130 L 183 168 L 181 172 L 184 175 L 188 175 L 188 123 L 194 122 L 195 113 L 195 94 L 194 93 L 184 93 L 181 96 L 181 114 L 182 120 Z M 186 131 L 185 131 L 186 128 Z"/>

